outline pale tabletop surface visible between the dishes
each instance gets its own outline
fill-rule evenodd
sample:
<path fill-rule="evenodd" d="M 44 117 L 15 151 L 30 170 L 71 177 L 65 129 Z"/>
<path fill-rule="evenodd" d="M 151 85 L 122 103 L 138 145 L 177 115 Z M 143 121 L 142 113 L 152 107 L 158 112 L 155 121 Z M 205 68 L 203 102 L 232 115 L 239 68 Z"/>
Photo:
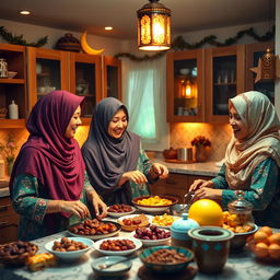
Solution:
<path fill-rule="evenodd" d="M 116 219 L 109 219 L 116 221 Z M 62 236 L 70 236 L 68 232 L 60 232 L 50 236 L 46 236 L 39 240 L 33 241 L 38 245 L 38 253 L 46 253 L 44 246 L 49 241 L 55 238 L 60 238 Z M 120 231 L 118 236 L 128 237 L 131 236 L 131 232 Z M 141 250 L 141 249 L 140 249 Z M 136 253 L 137 254 L 137 253 Z M 104 255 L 94 250 L 93 248 L 86 253 L 79 261 L 73 264 L 58 262 L 56 267 L 47 268 L 37 272 L 31 272 L 25 267 L 20 268 L 4 268 L 0 265 L 0 280 L 16 280 L 19 279 L 39 279 L 39 280 L 91 280 L 91 279 L 105 279 L 98 278 L 94 275 L 91 262 L 98 257 Z M 219 257 L 219 256 L 217 256 Z M 139 258 L 132 260 L 132 267 L 130 271 L 119 279 L 141 279 L 138 277 L 138 270 L 142 266 L 142 262 Z M 191 267 L 196 268 L 196 264 L 191 262 Z M 197 272 L 195 280 L 266 280 L 270 279 L 277 271 L 280 270 L 280 264 L 264 264 L 255 259 L 253 254 L 247 247 L 244 248 L 241 253 L 230 254 L 228 262 L 221 273 L 218 275 L 203 275 Z M 15 273 L 16 276 L 12 275 Z M 24 277 L 24 278 L 21 278 Z M 161 278 L 161 276 L 156 277 Z M 171 277 L 172 279 L 173 277 Z M 112 278 L 110 278 L 112 279 Z M 114 278 L 117 279 L 117 278 Z"/>

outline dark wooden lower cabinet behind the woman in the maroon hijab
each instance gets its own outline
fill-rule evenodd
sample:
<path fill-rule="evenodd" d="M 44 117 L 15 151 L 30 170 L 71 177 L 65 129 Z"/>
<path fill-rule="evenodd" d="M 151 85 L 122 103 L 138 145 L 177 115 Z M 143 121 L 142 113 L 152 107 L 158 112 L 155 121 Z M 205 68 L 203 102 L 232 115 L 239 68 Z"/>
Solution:
<path fill-rule="evenodd" d="M 0 198 L 0 244 L 18 241 L 19 214 L 9 197 Z"/>

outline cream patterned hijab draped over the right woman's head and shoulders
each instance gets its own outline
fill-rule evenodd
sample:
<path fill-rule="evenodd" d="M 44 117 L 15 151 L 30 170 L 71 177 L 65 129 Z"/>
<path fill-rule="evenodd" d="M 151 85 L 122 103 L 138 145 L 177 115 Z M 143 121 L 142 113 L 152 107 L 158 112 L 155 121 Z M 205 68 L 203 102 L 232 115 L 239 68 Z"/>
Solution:
<path fill-rule="evenodd" d="M 248 188 L 256 166 L 272 158 L 280 166 L 280 121 L 275 106 L 260 92 L 242 93 L 230 100 L 248 128 L 243 140 L 234 137 L 225 152 L 226 180 L 231 188 Z"/>

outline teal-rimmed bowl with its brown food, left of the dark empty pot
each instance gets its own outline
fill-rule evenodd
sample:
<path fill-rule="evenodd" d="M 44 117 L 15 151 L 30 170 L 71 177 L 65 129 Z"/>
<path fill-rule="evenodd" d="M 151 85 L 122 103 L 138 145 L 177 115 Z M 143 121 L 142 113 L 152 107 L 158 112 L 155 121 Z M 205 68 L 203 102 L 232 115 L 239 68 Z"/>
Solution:
<path fill-rule="evenodd" d="M 144 249 L 139 258 L 149 270 L 165 273 L 186 269 L 194 253 L 184 247 L 155 246 Z"/>

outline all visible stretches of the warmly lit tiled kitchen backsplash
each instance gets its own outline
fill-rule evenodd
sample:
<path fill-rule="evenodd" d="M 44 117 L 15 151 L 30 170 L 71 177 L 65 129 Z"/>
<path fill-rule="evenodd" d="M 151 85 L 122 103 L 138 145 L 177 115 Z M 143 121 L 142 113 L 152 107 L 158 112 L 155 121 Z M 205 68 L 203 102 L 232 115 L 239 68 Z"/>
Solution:
<path fill-rule="evenodd" d="M 88 138 L 89 126 L 78 129 L 75 139 L 80 147 Z M 0 129 L 0 142 L 5 143 L 9 137 L 14 139 L 18 147 L 16 154 L 22 144 L 27 140 L 26 129 Z M 205 136 L 211 141 L 211 155 L 209 161 L 220 161 L 224 156 L 226 145 L 231 139 L 232 130 L 229 125 L 210 124 L 171 124 L 171 147 L 183 148 L 191 147 L 190 141 L 196 136 Z"/>

